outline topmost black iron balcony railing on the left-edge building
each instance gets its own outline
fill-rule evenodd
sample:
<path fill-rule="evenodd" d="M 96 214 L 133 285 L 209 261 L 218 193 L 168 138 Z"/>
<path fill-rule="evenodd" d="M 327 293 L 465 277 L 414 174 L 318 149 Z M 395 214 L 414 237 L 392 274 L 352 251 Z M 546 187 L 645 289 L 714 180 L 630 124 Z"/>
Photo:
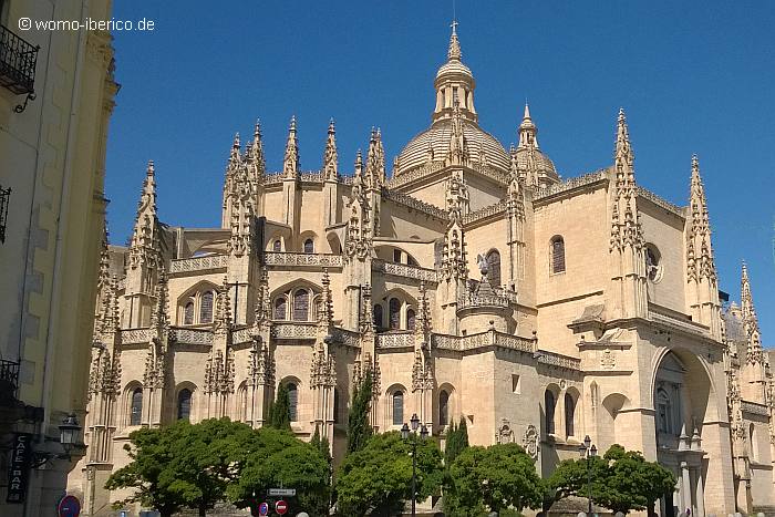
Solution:
<path fill-rule="evenodd" d="M 32 94 L 40 46 L 32 45 L 0 24 L 0 85 L 19 95 Z"/>

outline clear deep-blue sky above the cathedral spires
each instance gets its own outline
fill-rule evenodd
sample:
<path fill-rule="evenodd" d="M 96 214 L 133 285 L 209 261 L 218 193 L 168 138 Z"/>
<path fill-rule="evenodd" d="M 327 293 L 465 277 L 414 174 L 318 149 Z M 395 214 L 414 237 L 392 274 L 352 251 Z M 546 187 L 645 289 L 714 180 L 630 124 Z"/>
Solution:
<path fill-rule="evenodd" d="M 380 126 L 391 157 L 430 123 L 452 0 L 114 2 L 122 84 L 107 145 L 111 240 L 132 231 L 145 163 L 164 221 L 218 226 L 235 132 L 260 117 L 279 169 L 288 122 L 320 167 L 337 121 L 340 169 Z M 685 205 L 700 156 L 721 288 L 740 298 L 746 259 L 765 343 L 775 343 L 775 3 L 457 0 L 482 125 L 508 146 L 529 100 L 565 177 L 612 162 L 627 111 L 638 182 Z"/>

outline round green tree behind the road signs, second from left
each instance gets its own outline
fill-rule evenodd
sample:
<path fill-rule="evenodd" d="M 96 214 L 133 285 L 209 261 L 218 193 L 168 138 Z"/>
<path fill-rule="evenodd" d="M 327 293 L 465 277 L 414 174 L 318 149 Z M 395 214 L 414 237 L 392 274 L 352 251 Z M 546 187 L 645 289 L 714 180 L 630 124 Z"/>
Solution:
<path fill-rule="evenodd" d="M 266 490 L 285 486 L 296 488 L 288 499 L 290 513 L 328 515 L 329 459 L 320 448 L 304 443 L 287 431 L 265 427 L 242 442 L 244 465 L 240 475 L 227 488 L 237 507 L 256 513 L 254 503 Z"/>

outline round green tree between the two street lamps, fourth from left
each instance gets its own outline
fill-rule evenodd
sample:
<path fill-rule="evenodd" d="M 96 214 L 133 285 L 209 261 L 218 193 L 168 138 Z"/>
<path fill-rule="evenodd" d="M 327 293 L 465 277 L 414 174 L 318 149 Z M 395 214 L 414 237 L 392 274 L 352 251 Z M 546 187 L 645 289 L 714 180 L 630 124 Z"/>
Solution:
<path fill-rule="evenodd" d="M 467 447 L 450 467 L 445 509 L 453 517 L 539 508 L 541 483 L 533 458 L 517 444 Z"/>

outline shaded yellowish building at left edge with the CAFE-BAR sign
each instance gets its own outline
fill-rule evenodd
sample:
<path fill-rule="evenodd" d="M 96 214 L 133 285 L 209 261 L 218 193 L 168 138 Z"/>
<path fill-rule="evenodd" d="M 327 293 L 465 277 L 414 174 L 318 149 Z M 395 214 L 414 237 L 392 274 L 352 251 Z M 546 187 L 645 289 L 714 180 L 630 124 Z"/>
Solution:
<path fill-rule="evenodd" d="M 59 425 L 73 413 L 82 426 L 85 420 L 107 205 L 105 142 L 118 90 L 108 32 L 85 27 L 21 31 L 21 18 L 110 20 L 111 2 L 0 2 L 3 517 L 54 511 L 68 475 L 83 454 L 81 447 L 73 451 L 72 461 L 64 457 Z M 9 445 L 17 433 L 29 434 L 35 455 L 23 502 L 8 494 L 13 478 Z"/>

